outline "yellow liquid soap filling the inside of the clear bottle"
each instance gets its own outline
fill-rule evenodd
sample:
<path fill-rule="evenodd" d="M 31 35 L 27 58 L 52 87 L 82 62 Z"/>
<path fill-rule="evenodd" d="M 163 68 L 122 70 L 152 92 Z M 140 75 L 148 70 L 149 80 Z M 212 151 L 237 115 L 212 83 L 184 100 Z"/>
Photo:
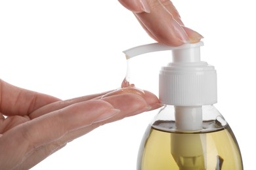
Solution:
<path fill-rule="evenodd" d="M 137 169 L 243 169 L 238 143 L 228 125 L 203 133 L 180 133 L 163 131 L 158 128 L 160 124 L 175 126 L 171 122 L 160 121 L 148 127 L 140 145 Z M 186 150 L 200 154 L 190 155 Z"/>

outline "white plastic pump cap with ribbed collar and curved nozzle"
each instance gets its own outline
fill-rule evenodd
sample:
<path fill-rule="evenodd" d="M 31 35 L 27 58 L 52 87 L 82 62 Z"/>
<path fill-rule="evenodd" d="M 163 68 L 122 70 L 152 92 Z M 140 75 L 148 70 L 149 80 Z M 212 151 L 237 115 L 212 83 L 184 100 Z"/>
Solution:
<path fill-rule="evenodd" d="M 173 62 L 162 67 L 159 76 L 159 97 L 164 105 L 201 106 L 217 103 L 215 68 L 200 60 L 203 42 L 167 46 L 154 43 L 124 51 L 127 59 L 161 50 L 173 51 Z"/>

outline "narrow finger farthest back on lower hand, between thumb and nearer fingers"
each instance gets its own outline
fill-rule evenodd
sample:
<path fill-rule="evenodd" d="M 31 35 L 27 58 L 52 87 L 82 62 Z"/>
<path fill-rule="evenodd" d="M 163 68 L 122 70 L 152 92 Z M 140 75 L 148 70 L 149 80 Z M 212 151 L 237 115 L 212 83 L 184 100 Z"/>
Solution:
<path fill-rule="evenodd" d="M 92 95 L 85 95 L 82 97 L 76 97 L 74 99 L 68 99 L 68 100 L 64 100 L 64 101 L 56 101 L 54 103 L 50 103 L 49 105 L 45 105 L 44 107 L 41 107 L 41 108 L 33 111 L 29 116 L 31 119 L 34 119 L 34 118 L 42 116 L 43 114 L 46 114 L 48 112 L 53 112 L 54 110 L 62 109 L 64 107 L 73 105 L 75 103 L 95 99 L 96 97 L 100 97 L 109 92 L 112 92 L 112 91 L 96 93 L 96 94 L 92 94 Z"/>

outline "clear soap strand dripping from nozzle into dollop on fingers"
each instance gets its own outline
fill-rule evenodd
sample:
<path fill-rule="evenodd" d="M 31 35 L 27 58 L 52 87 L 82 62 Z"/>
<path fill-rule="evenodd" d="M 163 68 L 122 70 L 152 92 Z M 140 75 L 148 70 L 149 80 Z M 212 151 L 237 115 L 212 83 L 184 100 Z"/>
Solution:
<path fill-rule="evenodd" d="M 121 88 L 117 88 L 117 90 L 114 90 L 113 92 L 106 93 L 105 95 L 102 96 L 104 97 L 109 97 L 111 95 L 117 95 L 117 94 L 122 94 L 122 93 L 134 93 L 137 95 L 140 95 L 141 97 L 144 97 L 144 91 L 140 90 L 139 88 L 135 87 L 135 84 L 130 84 L 130 59 L 127 59 L 127 70 L 126 70 L 126 75 L 125 78 L 123 79 L 123 82 L 121 82 Z"/>

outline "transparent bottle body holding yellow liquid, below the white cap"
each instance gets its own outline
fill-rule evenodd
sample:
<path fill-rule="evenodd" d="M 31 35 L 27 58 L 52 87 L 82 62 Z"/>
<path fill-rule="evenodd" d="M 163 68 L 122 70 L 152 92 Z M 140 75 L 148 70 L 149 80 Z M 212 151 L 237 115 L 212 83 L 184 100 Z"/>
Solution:
<path fill-rule="evenodd" d="M 219 111 L 213 105 L 193 108 L 194 114 L 202 111 L 202 129 L 192 131 L 179 129 L 177 122 L 186 109 L 192 108 L 160 110 L 142 139 L 137 169 L 243 169 L 236 138 Z"/>

